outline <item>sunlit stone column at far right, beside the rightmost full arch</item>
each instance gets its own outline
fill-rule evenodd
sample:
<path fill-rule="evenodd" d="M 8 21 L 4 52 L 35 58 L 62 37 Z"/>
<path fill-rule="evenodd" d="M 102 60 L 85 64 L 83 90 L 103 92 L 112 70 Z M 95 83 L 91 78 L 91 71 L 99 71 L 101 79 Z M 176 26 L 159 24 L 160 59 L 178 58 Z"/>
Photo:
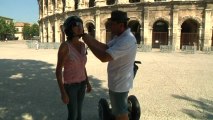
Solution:
<path fill-rule="evenodd" d="M 205 25 L 204 25 L 204 47 L 211 46 L 211 34 L 212 34 L 212 19 L 211 19 L 211 9 L 205 10 Z"/>

